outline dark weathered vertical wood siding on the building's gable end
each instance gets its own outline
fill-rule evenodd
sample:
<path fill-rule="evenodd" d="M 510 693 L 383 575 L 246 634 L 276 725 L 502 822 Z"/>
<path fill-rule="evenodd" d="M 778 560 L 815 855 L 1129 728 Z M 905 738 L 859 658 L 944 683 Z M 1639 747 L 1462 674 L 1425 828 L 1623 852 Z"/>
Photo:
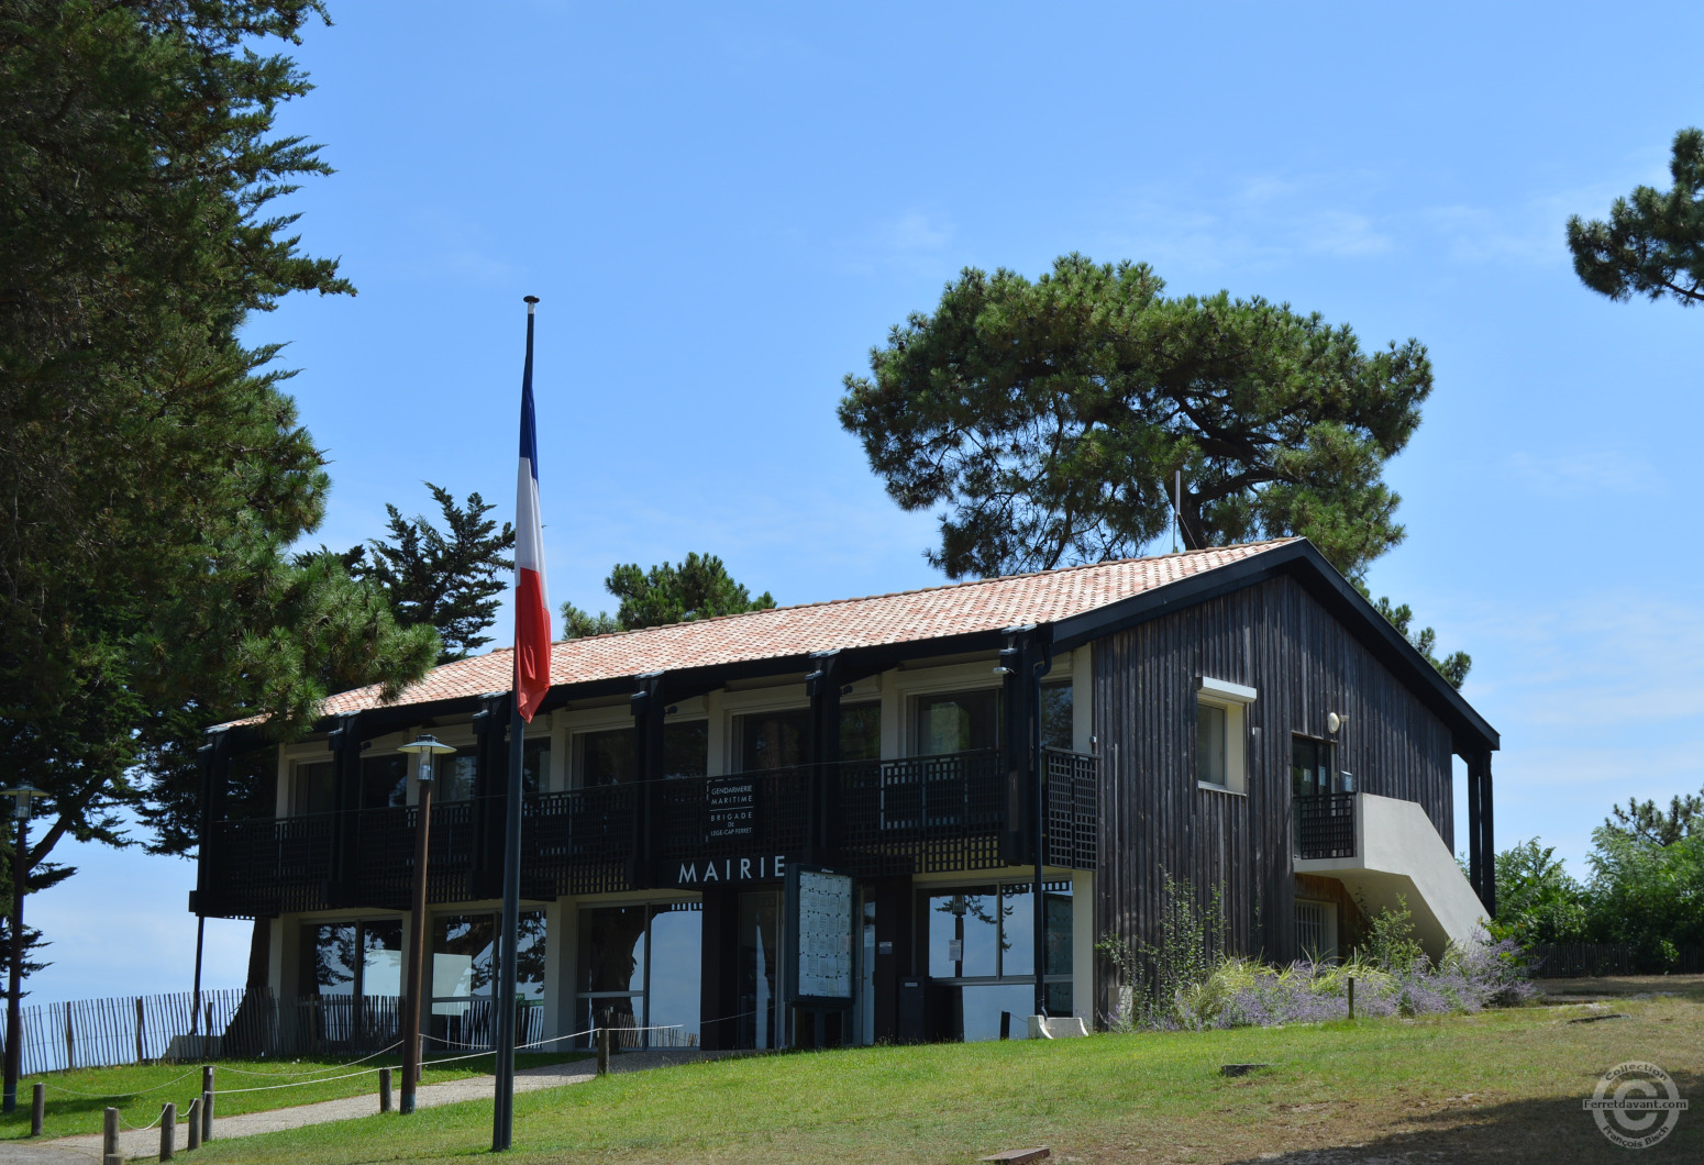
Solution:
<path fill-rule="evenodd" d="M 1201 674 L 1259 692 L 1247 710 L 1246 795 L 1196 785 Z M 1338 766 L 1356 789 L 1419 802 L 1454 850 L 1448 729 L 1288 577 L 1096 640 L 1096 937 L 1154 942 L 1171 874 L 1203 899 L 1218 889 L 1234 950 L 1293 957 L 1290 736 L 1326 737 L 1329 712 L 1348 717 Z"/>

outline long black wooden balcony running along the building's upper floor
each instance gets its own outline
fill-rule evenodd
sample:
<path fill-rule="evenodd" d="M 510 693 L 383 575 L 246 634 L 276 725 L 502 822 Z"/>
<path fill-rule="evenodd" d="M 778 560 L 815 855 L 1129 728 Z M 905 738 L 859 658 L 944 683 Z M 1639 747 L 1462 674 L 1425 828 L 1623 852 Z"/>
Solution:
<path fill-rule="evenodd" d="M 1046 864 L 1094 869 L 1094 756 L 1045 751 Z M 1004 755 L 995 749 L 804 765 L 528 794 L 521 892 L 533 899 L 685 884 L 683 865 L 813 860 L 862 877 L 999 869 L 1022 858 Z M 503 799 L 433 806 L 428 898 L 491 898 Z M 213 826 L 201 910 L 269 916 L 332 906 L 406 910 L 412 806 Z M 336 875 L 334 855 L 344 857 Z M 1028 860 L 1028 858 L 1026 858 Z M 733 869 L 733 867 L 724 867 Z"/>

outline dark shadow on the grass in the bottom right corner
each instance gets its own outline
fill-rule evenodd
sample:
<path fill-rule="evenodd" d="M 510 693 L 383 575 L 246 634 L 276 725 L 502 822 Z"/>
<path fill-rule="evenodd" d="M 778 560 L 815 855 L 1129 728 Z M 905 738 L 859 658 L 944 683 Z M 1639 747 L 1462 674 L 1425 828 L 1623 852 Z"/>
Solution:
<path fill-rule="evenodd" d="M 1292 1150 L 1237 1158 L 1237 1165 L 1430 1165 L 1431 1162 L 1534 1162 L 1576 1165 L 1586 1162 L 1701 1162 L 1704 1160 L 1704 1075 L 1672 1073 L 1675 1088 L 1692 1100 L 1673 1133 L 1660 1145 L 1629 1151 L 1605 1138 L 1580 1102 L 1592 1095 L 1597 1076 L 1581 1073 L 1580 1095 L 1571 1099 L 1506 1100 L 1476 1105 L 1472 1100 L 1445 1102 L 1402 1114 L 1406 1126 L 1367 1141 L 1331 1148 Z M 1329 1129 L 1319 1129 L 1329 1136 Z M 1348 1139 L 1346 1134 L 1344 1139 Z"/>

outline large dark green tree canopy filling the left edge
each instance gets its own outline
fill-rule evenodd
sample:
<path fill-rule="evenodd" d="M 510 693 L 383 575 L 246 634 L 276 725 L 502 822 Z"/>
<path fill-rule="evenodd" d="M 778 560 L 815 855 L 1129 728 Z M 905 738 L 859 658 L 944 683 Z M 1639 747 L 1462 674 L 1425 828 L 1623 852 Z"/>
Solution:
<path fill-rule="evenodd" d="M 184 848 L 201 729 L 392 690 L 438 654 L 334 555 L 322 456 L 250 312 L 351 293 L 271 203 L 325 174 L 274 136 L 314 0 L 12 0 L 0 20 L 0 768 L 65 836 Z M 138 778 L 138 772 L 143 773 Z"/>

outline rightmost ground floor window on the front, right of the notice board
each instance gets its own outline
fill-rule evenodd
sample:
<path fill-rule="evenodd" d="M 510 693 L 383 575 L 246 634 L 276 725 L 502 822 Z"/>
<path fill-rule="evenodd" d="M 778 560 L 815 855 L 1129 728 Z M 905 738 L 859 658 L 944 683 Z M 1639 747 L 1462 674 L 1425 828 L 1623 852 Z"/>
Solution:
<path fill-rule="evenodd" d="M 997 1039 L 1002 1012 L 1012 1036 L 1034 1013 L 1036 899 L 1033 882 L 929 889 L 922 898 L 929 978 L 947 988 L 953 1029 L 964 1041 Z M 1043 884 L 1043 990 L 1048 1015 L 1070 1015 L 1072 884 Z"/>

